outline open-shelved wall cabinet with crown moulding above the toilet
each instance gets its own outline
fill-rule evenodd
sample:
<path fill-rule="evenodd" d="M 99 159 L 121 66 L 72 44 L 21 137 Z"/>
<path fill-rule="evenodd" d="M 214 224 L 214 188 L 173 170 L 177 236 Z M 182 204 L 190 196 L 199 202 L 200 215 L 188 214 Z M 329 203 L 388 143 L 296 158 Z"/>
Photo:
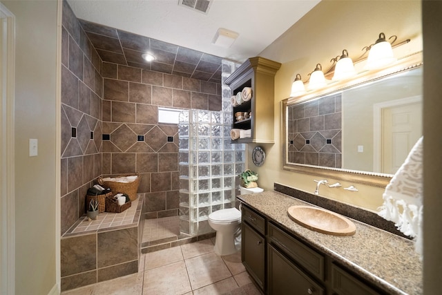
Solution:
<path fill-rule="evenodd" d="M 251 57 L 226 79 L 232 95 L 241 93 L 244 87 L 250 87 L 252 95 L 249 101 L 232 106 L 232 129 L 250 130 L 251 137 L 238 138 L 232 143 L 274 142 L 274 77 L 280 66 L 264 57 Z M 235 114 L 238 112 L 245 112 L 249 117 L 237 121 Z"/>

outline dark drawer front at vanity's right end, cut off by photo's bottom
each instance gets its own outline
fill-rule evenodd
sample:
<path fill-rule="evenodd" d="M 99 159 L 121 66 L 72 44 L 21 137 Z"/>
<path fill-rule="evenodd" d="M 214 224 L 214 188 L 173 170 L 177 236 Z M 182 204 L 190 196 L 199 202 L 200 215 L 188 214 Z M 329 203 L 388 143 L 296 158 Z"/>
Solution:
<path fill-rule="evenodd" d="M 369 285 L 363 283 L 362 280 L 349 274 L 344 269 L 332 264 L 332 284 L 333 290 L 339 295 L 375 295 L 383 294 L 377 292 Z"/>

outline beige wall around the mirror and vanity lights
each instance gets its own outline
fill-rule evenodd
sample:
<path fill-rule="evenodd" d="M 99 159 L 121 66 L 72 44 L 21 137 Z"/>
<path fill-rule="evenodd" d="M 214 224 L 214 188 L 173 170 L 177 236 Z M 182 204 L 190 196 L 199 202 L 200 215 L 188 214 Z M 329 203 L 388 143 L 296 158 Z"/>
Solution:
<path fill-rule="evenodd" d="M 259 174 L 259 185 L 273 189 L 273 182 L 312 192 L 312 175 L 283 171 L 280 130 L 280 102 L 289 97 L 297 73 L 305 81 L 317 63 L 328 68 L 330 59 L 347 49 L 350 57 L 361 55 L 362 48 L 376 41 L 378 34 L 397 35 L 410 43 L 395 49 L 398 57 L 422 50 L 420 1 L 321 1 L 305 17 L 266 48 L 260 56 L 282 62 L 275 77 L 275 144 L 263 144 L 267 160 L 261 167 L 249 164 Z M 249 144 L 249 154 L 254 146 Z M 335 181 L 330 180 L 329 181 Z M 349 182 L 341 182 L 344 187 Z M 365 209 L 382 204 L 383 189 L 355 184 L 358 193 L 322 187 L 320 194 Z"/>

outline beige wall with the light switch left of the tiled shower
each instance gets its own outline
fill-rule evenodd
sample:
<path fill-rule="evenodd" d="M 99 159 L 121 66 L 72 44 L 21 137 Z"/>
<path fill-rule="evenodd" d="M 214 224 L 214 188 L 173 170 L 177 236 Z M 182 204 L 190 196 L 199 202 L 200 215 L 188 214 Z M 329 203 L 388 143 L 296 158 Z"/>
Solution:
<path fill-rule="evenodd" d="M 56 284 L 57 1 L 2 1 L 15 15 L 15 294 Z M 29 157 L 28 140 L 38 139 Z"/>

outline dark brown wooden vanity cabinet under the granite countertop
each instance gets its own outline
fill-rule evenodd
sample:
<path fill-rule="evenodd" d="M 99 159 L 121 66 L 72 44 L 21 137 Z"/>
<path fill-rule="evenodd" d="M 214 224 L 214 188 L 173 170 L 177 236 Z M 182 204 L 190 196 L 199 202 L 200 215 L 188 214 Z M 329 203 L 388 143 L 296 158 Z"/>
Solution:
<path fill-rule="evenodd" d="M 241 257 L 265 294 L 386 294 L 244 203 Z"/>

